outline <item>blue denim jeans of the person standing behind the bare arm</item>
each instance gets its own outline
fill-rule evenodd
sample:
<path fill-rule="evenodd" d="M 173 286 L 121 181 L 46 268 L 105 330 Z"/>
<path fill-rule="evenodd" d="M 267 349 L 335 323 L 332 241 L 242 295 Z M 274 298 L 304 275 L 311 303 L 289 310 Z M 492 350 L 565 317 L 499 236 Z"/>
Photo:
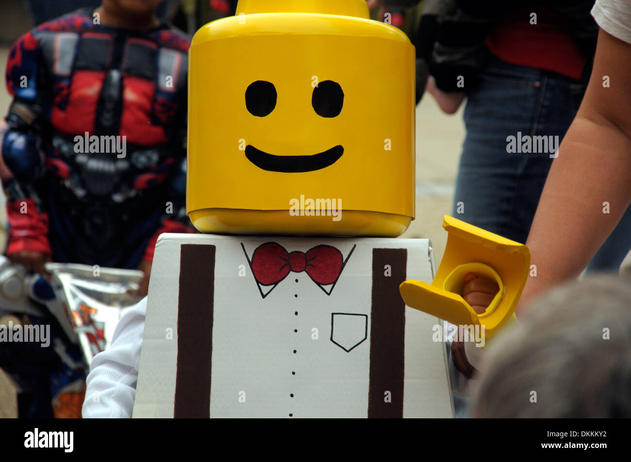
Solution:
<path fill-rule="evenodd" d="M 524 243 L 553 159 L 545 153 L 508 153 L 507 137 L 563 139 L 581 105 L 586 75 L 575 81 L 495 59 L 480 74 L 464 110 L 454 217 Z M 557 146 L 558 147 L 558 146 Z M 561 155 L 572 155 L 565 153 Z M 461 212 L 461 213 L 459 213 Z M 628 210 L 588 270 L 617 271 L 631 248 Z"/>

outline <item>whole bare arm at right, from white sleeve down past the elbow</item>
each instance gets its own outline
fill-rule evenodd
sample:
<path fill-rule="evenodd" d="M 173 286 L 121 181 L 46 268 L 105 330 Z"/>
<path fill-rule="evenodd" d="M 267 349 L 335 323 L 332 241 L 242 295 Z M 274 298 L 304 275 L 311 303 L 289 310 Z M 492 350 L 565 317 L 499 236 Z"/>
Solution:
<path fill-rule="evenodd" d="M 536 277 L 529 277 L 517 315 L 534 296 L 579 275 L 631 202 L 630 82 L 631 44 L 601 30 L 586 95 L 528 236 Z"/>

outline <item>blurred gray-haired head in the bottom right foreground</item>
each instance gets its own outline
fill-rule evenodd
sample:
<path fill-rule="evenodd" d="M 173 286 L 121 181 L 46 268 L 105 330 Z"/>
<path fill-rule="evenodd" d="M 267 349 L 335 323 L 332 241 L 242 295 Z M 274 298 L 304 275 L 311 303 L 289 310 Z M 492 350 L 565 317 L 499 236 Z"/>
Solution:
<path fill-rule="evenodd" d="M 631 282 L 555 289 L 492 339 L 471 417 L 631 417 Z"/>

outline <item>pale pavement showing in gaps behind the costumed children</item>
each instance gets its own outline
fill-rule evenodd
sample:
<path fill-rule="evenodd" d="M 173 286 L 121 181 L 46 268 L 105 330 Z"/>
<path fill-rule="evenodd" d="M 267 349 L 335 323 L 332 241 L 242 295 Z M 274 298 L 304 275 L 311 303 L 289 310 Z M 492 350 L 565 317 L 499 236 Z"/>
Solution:
<path fill-rule="evenodd" d="M 8 45 L 0 45 L 0 67 L 4 67 Z M 6 113 L 10 99 L 0 90 L 0 112 Z M 464 139 L 462 108 L 454 115 L 442 113 L 430 95 L 416 107 L 416 218 L 404 238 L 429 238 L 438 267 L 447 243 L 442 217 L 451 214 L 457 163 Z M 0 192 L 0 246 L 4 248 L 6 214 Z M 0 369 L 0 418 L 16 417 L 15 390 Z"/>

